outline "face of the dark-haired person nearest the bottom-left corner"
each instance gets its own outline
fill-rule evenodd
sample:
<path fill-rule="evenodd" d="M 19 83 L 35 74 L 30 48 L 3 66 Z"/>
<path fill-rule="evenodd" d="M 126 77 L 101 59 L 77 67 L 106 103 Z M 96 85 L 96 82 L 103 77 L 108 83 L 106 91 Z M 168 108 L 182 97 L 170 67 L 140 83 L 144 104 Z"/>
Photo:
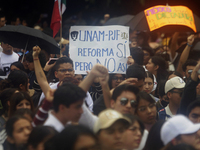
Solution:
<path fill-rule="evenodd" d="M 13 137 L 9 137 L 9 141 L 16 146 L 27 143 L 32 130 L 31 123 L 26 119 L 19 119 L 13 125 Z"/>

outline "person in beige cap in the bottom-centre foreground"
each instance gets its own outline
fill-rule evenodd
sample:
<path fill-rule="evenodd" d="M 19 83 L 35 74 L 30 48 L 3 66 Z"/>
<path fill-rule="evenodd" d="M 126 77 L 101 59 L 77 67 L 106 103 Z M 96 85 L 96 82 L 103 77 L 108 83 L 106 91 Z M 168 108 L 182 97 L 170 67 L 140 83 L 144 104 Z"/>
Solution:
<path fill-rule="evenodd" d="M 111 109 L 102 111 L 94 126 L 94 133 L 98 137 L 101 149 L 123 149 L 123 138 L 129 125 L 130 120 L 119 112 Z"/>

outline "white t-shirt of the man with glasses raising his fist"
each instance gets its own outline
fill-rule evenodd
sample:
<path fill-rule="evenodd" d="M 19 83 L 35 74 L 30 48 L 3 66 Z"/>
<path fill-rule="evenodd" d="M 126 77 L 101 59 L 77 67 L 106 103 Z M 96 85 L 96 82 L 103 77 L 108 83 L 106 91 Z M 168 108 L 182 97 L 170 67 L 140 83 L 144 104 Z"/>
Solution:
<path fill-rule="evenodd" d="M 51 84 L 51 85 L 50 85 L 50 88 L 51 88 L 51 89 L 57 89 L 57 88 L 58 88 L 58 83 L 59 83 L 59 82 L 50 83 L 50 84 Z M 42 92 L 42 94 L 41 94 L 41 96 L 40 96 L 40 100 L 39 100 L 38 106 L 40 106 L 40 104 L 41 104 L 41 102 L 42 102 L 42 100 L 43 100 L 44 98 L 45 98 L 45 95 L 44 95 L 44 93 Z M 90 110 L 91 112 L 93 112 L 93 100 L 92 100 L 92 98 L 91 98 L 89 92 L 86 93 L 86 97 L 85 97 L 84 101 L 86 101 L 89 110 Z"/>

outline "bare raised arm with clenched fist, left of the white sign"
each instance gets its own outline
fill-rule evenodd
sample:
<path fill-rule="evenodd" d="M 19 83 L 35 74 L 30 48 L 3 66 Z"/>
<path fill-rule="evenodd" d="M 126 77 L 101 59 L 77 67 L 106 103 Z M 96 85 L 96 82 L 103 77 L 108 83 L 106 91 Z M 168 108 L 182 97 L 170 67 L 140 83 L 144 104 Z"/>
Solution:
<path fill-rule="evenodd" d="M 45 97 L 47 96 L 47 92 L 50 90 L 50 86 L 47 82 L 47 78 L 44 74 L 44 71 L 41 67 L 38 55 L 40 53 L 41 49 L 39 46 L 34 46 L 33 47 L 33 62 L 34 62 L 34 67 L 35 67 L 35 75 L 37 78 L 37 81 L 44 92 Z"/>

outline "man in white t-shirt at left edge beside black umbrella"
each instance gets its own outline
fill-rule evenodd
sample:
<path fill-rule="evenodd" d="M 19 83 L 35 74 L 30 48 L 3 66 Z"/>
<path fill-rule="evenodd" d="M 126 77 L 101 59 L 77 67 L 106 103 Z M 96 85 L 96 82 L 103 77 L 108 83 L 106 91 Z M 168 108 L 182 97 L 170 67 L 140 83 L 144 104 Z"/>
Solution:
<path fill-rule="evenodd" d="M 2 69 L 5 75 L 10 73 L 10 65 L 13 62 L 18 61 L 19 55 L 13 51 L 13 47 L 7 42 L 1 42 L 3 51 L 0 52 L 0 69 Z"/>

